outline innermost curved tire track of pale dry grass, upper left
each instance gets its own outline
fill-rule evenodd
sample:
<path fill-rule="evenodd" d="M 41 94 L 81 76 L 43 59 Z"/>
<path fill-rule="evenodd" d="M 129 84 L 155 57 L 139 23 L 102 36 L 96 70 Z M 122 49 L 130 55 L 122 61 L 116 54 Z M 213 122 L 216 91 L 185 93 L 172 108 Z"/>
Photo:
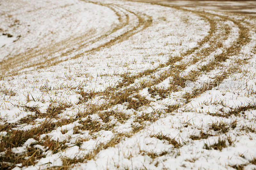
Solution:
<path fill-rule="evenodd" d="M 88 3 L 91 2 L 91 1 L 86 1 L 86 0 L 83 0 L 83 1 L 88 2 Z M 91 2 L 91 3 L 93 3 L 93 2 Z M 91 34 L 89 32 L 89 33 L 86 33 L 86 34 L 84 34 L 82 36 L 79 36 L 79 37 L 76 37 L 74 39 L 68 40 L 68 42 L 67 42 L 67 40 L 64 40 L 64 41 L 61 41 L 61 42 L 59 42 L 57 44 L 51 45 L 50 48 L 39 49 L 39 50 L 36 50 L 36 51 L 30 50 L 30 51 L 28 51 L 28 52 L 26 52 L 24 54 L 18 54 L 18 55 L 15 55 L 13 57 L 9 57 L 8 59 L 0 62 L 0 64 L 1 64 L 0 65 L 1 72 L 5 71 L 5 72 L 8 73 L 8 71 L 9 71 L 9 73 L 7 75 L 12 75 L 13 76 L 13 75 L 20 74 L 21 72 L 19 72 L 19 71 L 27 69 L 29 67 L 37 66 L 37 67 L 40 68 L 40 65 L 41 65 L 41 68 L 43 68 L 42 67 L 43 63 L 45 63 L 46 61 L 50 62 L 53 59 L 59 58 L 60 56 L 52 57 L 52 58 L 50 58 L 50 59 L 48 59 L 46 61 L 43 60 L 43 58 L 40 58 L 40 59 L 36 58 L 37 61 L 34 61 L 35 63 L 31 63 L 31 64 L 28 64 L 28 65 L 25 65 L 25 66 L 22 66 L 22 64 L 25 61 L 32 60 L 32 58 L 35 58 L 35 57 L 38 57 L 38 56 L 47 55 L 47 54 L 49 54 L 49 52 L 50 52 L 50 55 L 54 55 L 55 53 L 63 51 L 65 48 L 67 48 L 66 46 L 65 47 L 61 47 L 61 45 L 63 43 L 65 43 L 65 44 L 73 44 L 73 43 L 75 43 L 75 45 L 79 45 L 78 48 L 76 48 L 76 49 L 71 48 L 68 51 L 65 51 L 65 52 L 61 53 L 62 56 L 69 55 L 69 54 L 71 54 L 73 52 L 81 50 L 84 47 L 88 47 L 89 45 L 91 45 L 91 44 L 93 44 L 93 43 L 95 43 L 97 41 L 101 41 L 102 39 L 106 38 L 110 34 L 112 34 L 112 33 L 116 32 L 116 31 L 124 28 L 125 26 L 127 26 L 129 24 L 129 16 L 127 14 L 125 14 L 122 10 L 117 9 L 114 5 L 102 4 L 102 3 L 93 3 L 93 4 L 97 4 L 97 5 L 108 7 L 109 9 L 114 11 L 116 16 L 118 17 L 118 20 L 119 20 L 120 24 L 116 24 L 112 30 L 109 30 L 107 33 L 105 33 L 104 35 L 101 35 L 101 36 L 97 36 L 97 35 L 95 35 L 95 33 Z M 97 36 L 97 38 L 94 38 L 94 36 Z M 81 40 L 77 41 L 79 39 L 81 39 Z M 83 43 L 81 44 L 81 42 L 83 42 Z M 57 46 L 57 47 L 60 46 L 60 48 L 52 51 L 51 50 L 52 47 L 55 47 L 55 46 Z M 43 60 L 43 61 L 40 61 L 40 60 Z M 10 63 L 12 63 L 11 64 L 12 65 L 12 70 L 11 71 L 10 71 L 10 68 L 8 67 L 10 65 Z M 6 68 L 6 67 L 8 68 L 8 70 L 4 70 L 4 68 Z M 19 67 L 21 67 L 21 68 L 19 68 Z M 36 69 L 33 69 L 33 70 L 36 70 Z M 4 73 L 2 73 L 2 75 L 4 75 Z"/>

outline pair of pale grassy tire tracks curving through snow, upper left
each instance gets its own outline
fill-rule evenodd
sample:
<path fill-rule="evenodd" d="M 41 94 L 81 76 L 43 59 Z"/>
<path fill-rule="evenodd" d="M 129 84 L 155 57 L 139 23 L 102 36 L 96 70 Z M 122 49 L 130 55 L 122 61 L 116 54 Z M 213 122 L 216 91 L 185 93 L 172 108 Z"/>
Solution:
<path fill-rule="evenodd" d="M 92 42 L 85 43 L 82 46 L 80 46 L 80 48 L 77 48 L 76 50 L 72 48 L 71 50 L 62 53 L 60 56 L 57 56 L 57 57 L 50 57 L 50 59 L 37 60 L 38 62 L 33 63 L 33 64 L 29 64 L 29 65 L 25 65 L 25 66 L 22 66 L 22 64 L 24 64 L 24 61 L 27 61 L 29 58 L 31 59 L 32 57 L 37 57 L 38 56 L 38 54 L 37 54 L 38 52 L 32 51 L 32 55 L 28 55 L 28 52 L 27 52 L 27 53 L 22 54 L 22 55 L 14 56 L 13 59 L 10 57 L 10 58 L 8 58 L 8 60 L 2 61 L 0 63 L 1 66 L 2 66 L 2 67 L 0 67 L 0 71 L 2 72 L 2 74 L 4 73 L 4 74 L 9 74 L 9 75 L 17 75 L 18 71 L 23 70 L 25 68 L 35 67 L 36 69 L 42 69 L 42 68 L 53 66 L 53 65 L 56 65 L 58 63 L 70 60 L 70 59 L 76 59 L 76 58 L 78 58 L 78 57 L 80 57 L 80 56 L 82 56 L 84 54 L 92 54 L 92 53 L 94 53 L 96 51 L 99 51 L 101 48 L 108 48 L 110 46 L 113 46 L 116 43 L 119 43 L 119 42 L 127 40 L 129 37 L 131 37 L 135 33 L 138 33 L 140 31 L 144 30 L 145 28 L 150 26 L 151 23 L 152 23 L 152 18 L 150 16 L 146 16 L 146 19 L 145 19 L 144 18 L 145 16 L 140 16 L 140 15 L 138 15 L 138 14 L 132 12 L 132 11 L 126 10 L 126 11 L 128 11 L 130 13 L 133 13 L 139 19 L 139 24 L 137 26 L 135 26 L 132 30 L 127 31 L 127 32 L 125 32 L 125 33 L 115 37 L 114 39 L 111 39 L 110 41 L 108 41 L 108 42 L 106 42 L 106 43 L 104 43 L 104 44 L 102 44 L 102 45 L 100 45 L 100 46 L 98 46 L 96 48 L 92 48 L 92 49 L 87 50 L 85 52 L 76 54 L 75 56 L 73 56 L 71 58 L 69 57 L 68 59 L 58 60 L 58 58 L 61 58 L 63 56 L 67 56 L 67 55 L 69 55 L 69 54 L 71 54 L 71 53 L 73 53 L 75 51 L 79 51 L 79 49 L 86 47 L 86 45 L 90 45 L 91 43 L 94 43 L 94 42 L 97 42 L 97 41 L 100 41 L 100 40 L 106 38 L 111 33 L 116 32 L 117 30 L 123 28 L 124 26 L 126 26 L 129 23 L 129 18 L 126 18 L 125 21 L 124 21 L 124 19 L 121 18 L 121 14 L 119 14 L 115 10 L 115 8 L 113 8 L 111 5 L 104 4 L 104 3 L 99 3 L 99 2 L 92 2 L 92 1 L 90 1 L 90 2 L 94 3 L 94 4 L 99 4 L 99 5 L 106 6 L 106 7 L 110 8 L 111 10 L 113 10 L 116 13 L 116 15 L 119 16 L 119 21 L 120 21 L 121 24 L 118 24 L 112 30 L 108 31 L 108 33 L 106 33 L 103 36 L 100 36 L 99 38 L 96 38 Z M 117 6 L 117 5 L 115 5 L 115 6 Z M 88 35 L 89 34 L 90 33 L 88 33 Z M 79 37 L 79 39 L 81 39 L 81 38 Z M 55 47 L 55 46 L 57 47 L 57 49 L 56 48 L 49 49 L 49 51 L 47 51 L 45 49 L 40 49 L 39 53 L 42 53 L 42 52 L 44 53 L 44 51 L 47 51 L 47 53 L 49 53 L 49 54 L 54 54 L 54 53 L 57 53 L 57 52 L 61 51 L 61 49 L 58 49 L 58 44 L 57 45 L 55 44 L 53 47 Z M 21 61 L 17 60 L 17 57 L 20 57 Z M 12 66 L 14 66 L 14 67 L 12 67 L 12 69 L 17 69 L 17 68 L 19 68 L 19 69 L 15 70 L 15 71 L 12 71 L 12 72 L 8 72 L 8 70 L 10 70 L 10 62 L 12 62 Z M 13 64 L 13 63 L 16 63 L 16 64 Z M 20 66 L 21 66 L 21 68 L 20 68 Z"/>

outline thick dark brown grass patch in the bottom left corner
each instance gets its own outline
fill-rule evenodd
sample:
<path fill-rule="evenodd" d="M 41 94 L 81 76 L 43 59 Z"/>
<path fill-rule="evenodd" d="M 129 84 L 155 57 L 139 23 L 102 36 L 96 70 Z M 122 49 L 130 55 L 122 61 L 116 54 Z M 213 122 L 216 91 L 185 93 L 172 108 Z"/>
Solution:
<path fill-rule="evenodd" d="M 22 154 L 16 154 L 12 152 L 12 148 L 22 146 L 29 138 L 34 138 L 38 141 L 38 144 L 45 146 L 48 148 L 47 150 L 52 150 L 53 152 L 57 152 L 63 149 L 63 144 L 59 144 L 58 142 L 52 142 L 49 138 L 41 141 L 39 140 L 39 136 L 48 131 L 51 131 L 55 128 L 52 122 L 43 122 L 39 125 L 39 127 L 32 128 L 30 130 L 11 130 L 7 133 L 6 136 L 2 137 L 0 152 L 4 152 L 4 156 L 1 158 L 1 166 L 3 168 L 12 168 L 15 167 L 15 164 L 22 163 L 22 166 L 35 165 L 35 160 L 44 157 L 43 152 L 40 149 L 34 148 L 33 146 L 27 147 L 27 152 Z M 65 142 L 63 142 L 65 143 Z M 4 162 L 9 162 L 11 164 L 6 164 Z"/>

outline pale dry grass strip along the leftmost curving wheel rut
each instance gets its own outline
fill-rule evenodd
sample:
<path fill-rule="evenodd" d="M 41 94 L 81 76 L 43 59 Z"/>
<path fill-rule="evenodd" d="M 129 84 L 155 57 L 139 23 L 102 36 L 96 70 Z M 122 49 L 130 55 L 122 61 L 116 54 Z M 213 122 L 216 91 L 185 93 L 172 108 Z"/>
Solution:
<path fill-rule="evenodd" d="M 35 67 L 35 66 L 37 66 L 37 69 L 42 69 L 46 66 L 48 67 L 50 62 L 52 62 L 57 57 L 51 57 L 51 59 L 46 60 L 46 59 L 43 58 L 43 56 L 45 54 L 54 55 L 57 52 L 61 52 L 62 50 L 64 50 L 66 48 L 65 46 L 63 46 L 64 44 L 74 44 L 74 45 L 77 44 L 78 48 L 76 48 L 76 49 L 70 48 L 68 51 L 65 51 L 65 52 L 61 53 L 61 56 L 69 55 L 72 52 L 78 51 L 78 50 L 86 47 L 87 45 L 89 45 L 93 42 L 96 42 L 96 41 L 99 41 L 99 40 L 103 39 L 104 37 L 106 37 L 109 34 L 121 29 L 122 27 L 124 27 L 128 24 L 129 18 L 126 18 L 126 19 L 122 18 L 121 14 L 118 11 L 116 11 L 115 8 L 113 8 L 111 5 L 107 5 L 107 4 L 104 4 L 104 3 L 97 3 L 97 2 L 92 2 L 92 3 L 103 5 L 103 6 L 106 6 L 106 7 L 110 8 L 111 10 L 113 10 L 116 13 L 116 15 L 118 16 L 119 21 L 120 21 L 121 24 L 114 26 L 114 28 L 112 30 L 110 30 L 108 33 L 106 33 L 105 35 L 100 36 L 100 37 L 98 37 L 98 38 L 96 38 L 95 40 L 92 40 L 92 41 L 87 41 L 87 40 L 89 40 L 90 38 L 92 38 L 94 36 L 93 30 L 89 30 L 89 32 L 84 33 L 84 34 L 82 34 L 80 36 L 77 36 L 75 38 L 68 38 L 68 39 L 60 41 L 58 43 L 54 43 L 54 44 L 51 44 L 51 45 L 48 44 L 47 45 L 48 47 L 43 47 L 43 48 L 36 49 L 36 50 L 30 49 L 30 50 L 26 51 L 23 54 L 18 54 L 18 55 L 15 55 L 13 57 L 8 57 L 8 60 L 4 60 L 0 63 L 1 64 L 1 67 L 0 67 L 1 71 L 0 72 L 2 72 L 2 74 L 4 72 L 8 73 L 8 70 L 10 70 L 11 68 L 12 69 L 17 69 L 18 68 L 19 70 L 22 70 L 22 69 L 25 69 L 25 68 Z M 41 56 L 42 60 L 38 60 L 36 63 L 29 64 L 29 65 L 24 64 L 25 61 L 28 61 L 29 59 L 32 59 L 32 58 L 38 57 L 38 56 Z M 60 57 L 60 56 L 58 56 L 58 57 Z M 10 63 L 12 63 L 12 64 L 10 64 Z M 57 64 L 57 63 L 59 63 L 59 62 L 56 62 L 56 61 L 52 62 L 52 64 Z M 12 67 L 10 67 L 10 65 Z M 22 66 L 22 65 L 25 65 L 25 66 Z M 21 66 L 21 68 L 20 68 L 20 66 Z M 15 70 L 15 71 L 10 72 L 9 74 L 10 75 L 16 75 L 17 73 L 18 73 L 18 70 Z"/>

